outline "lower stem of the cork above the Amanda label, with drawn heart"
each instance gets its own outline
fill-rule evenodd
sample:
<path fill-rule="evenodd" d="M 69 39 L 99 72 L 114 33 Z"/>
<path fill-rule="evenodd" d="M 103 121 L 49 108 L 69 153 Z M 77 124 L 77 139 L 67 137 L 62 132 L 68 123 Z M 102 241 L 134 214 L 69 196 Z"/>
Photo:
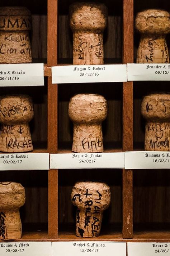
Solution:
<path fill-rule="evenodd" d="M 145 150 L 170 151 L 170 122 L 146 120 Z"/>

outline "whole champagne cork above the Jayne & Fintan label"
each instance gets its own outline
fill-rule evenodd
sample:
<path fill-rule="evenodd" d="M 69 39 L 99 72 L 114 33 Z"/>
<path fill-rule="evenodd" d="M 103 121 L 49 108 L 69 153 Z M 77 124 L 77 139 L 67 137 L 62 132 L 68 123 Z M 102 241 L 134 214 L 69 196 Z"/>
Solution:
<path fill-rule="evenodd" d="M 101 122 L 107 116 L 107 101 L 98 94 L 77 94 L 70 99 L 69 116 L 74 123 L 72 151 L 103 152 Z"/>

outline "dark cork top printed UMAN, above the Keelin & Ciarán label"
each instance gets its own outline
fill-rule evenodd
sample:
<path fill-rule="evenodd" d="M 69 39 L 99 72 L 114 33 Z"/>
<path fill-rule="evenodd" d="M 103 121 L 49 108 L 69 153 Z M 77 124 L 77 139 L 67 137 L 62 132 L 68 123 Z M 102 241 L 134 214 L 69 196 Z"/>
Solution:
<path fill-rule="evenodd" d="M 27 31 L 30 29 L 31 15 L 26 7 L 0 7 L 0 31 Z"/>

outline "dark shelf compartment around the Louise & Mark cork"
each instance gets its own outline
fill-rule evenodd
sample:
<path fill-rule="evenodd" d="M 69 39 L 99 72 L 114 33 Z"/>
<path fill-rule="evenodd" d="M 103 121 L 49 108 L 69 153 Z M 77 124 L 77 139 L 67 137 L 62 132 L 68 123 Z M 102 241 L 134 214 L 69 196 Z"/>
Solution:
<path fill-rule="evenodd" d="M 13 181 L 25 188 L 20 207 L 22 240 L 48 238 L 48 171 L 0 171 L 1 181 Z M 41 179 L 40 179 L 41 177 Z M 35 235 L 35 237 L 34 237 Z"/>

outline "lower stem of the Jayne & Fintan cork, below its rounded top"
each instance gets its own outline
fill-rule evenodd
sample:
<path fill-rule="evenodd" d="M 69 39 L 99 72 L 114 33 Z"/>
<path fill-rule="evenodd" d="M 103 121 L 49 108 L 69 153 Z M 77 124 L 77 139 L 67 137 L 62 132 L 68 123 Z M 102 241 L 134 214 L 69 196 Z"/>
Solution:
<path fill-rule="evenodd" d="M 103 152 L 101 123 L 74 123 L 73 152 Z"/>

